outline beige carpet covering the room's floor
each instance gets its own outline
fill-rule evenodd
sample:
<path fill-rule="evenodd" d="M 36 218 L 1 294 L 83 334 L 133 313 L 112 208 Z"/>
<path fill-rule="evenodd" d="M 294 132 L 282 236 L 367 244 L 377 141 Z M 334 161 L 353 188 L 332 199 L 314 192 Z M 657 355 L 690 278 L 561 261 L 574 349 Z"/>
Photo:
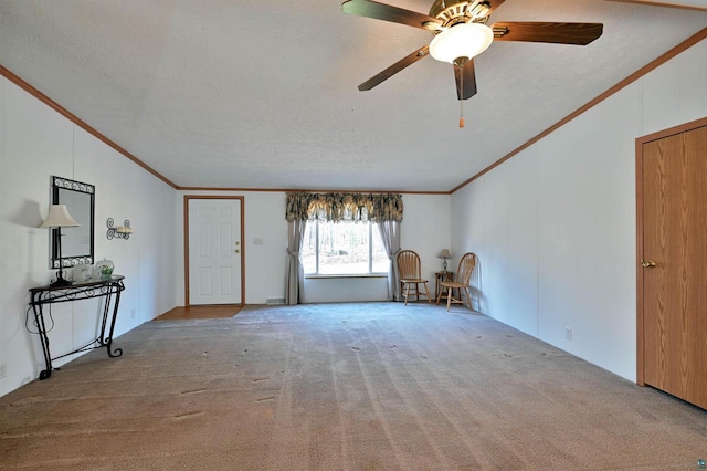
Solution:
<path fill-rule="evenodd" d="M 458 307 L 152 322 L 0 398 L 0 469 L 696 469 L 707 411 Z"/>

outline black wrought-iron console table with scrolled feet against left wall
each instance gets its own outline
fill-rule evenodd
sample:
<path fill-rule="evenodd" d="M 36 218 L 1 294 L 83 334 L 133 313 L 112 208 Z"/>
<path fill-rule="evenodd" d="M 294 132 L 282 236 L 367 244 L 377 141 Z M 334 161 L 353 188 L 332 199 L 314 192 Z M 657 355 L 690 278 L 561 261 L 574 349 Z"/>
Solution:
<path fill-rule="evenodd" d="M 44 362 L 46 369 L 40 373 L 40 379 L 46 379 L 52 376 L 52 360 L 73 355 L 78 352 L 87 352 L 94 348 L 106 347 L 108 356 L 112 358 L 123 355 L 123 349 L 110 348 L 113 344 L 113 329 L 115 328 L 115 320 L 118 316 L 118 303 L 120 302 L 120 292 L 125 290 L 123 280 L 125 276 L 113 275 L 105 280 L 92 280 L 85 283 L 72 283 L 68 286 L 40 286 L 30 289 L 32 300 L 30 306 L 34 312 L 34 323 L 36 324 L 40 339 L 42 341 L 42 352 L 44 353 Z M 114 299 L 115 295 L 115 299 Z M 54 303 L 66 303 L 68 301 L 88 300 L 92 297 L 105 297 L 103 306 L 103 320 L 101 323 L 101 334 L 98 338 L 76 348 L 64 355 L 52 358 L 49 349 L 49 336 L 46 335 L 46 322 L 44 320 L 44 306 Z M 110 301 L 113 310 L 110 310 Z M 107 331 L 107 332 L 106 332 Z M 56 368 L 59 369 L 59 368 Z"/>

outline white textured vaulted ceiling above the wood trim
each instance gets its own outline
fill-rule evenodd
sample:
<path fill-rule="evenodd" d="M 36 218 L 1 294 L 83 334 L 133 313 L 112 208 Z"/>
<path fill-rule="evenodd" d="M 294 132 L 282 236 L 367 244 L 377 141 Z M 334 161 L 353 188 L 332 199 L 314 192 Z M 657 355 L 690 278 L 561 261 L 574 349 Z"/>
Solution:
<path fill-rule="evenodd" d="M 338 0 L 0 0 L 0 64 L 179 187 L 449 191 L 706 28 L 707 11 L 506 0 L 497 21 L 604 32 L 492 44 L 463 129 L 449 64 L 357 90 L 431 35 Z"/>

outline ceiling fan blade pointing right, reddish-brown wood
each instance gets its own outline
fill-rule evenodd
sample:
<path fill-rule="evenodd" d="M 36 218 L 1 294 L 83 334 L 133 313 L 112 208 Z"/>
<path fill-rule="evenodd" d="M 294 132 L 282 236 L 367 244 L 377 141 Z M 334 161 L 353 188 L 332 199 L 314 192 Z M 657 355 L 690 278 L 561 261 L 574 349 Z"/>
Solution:
<path fill-rule="evenodd" d="M 494 41 L 551 42 L 587 45 L 602 33 L 602 23 L 494 23 Z"/>

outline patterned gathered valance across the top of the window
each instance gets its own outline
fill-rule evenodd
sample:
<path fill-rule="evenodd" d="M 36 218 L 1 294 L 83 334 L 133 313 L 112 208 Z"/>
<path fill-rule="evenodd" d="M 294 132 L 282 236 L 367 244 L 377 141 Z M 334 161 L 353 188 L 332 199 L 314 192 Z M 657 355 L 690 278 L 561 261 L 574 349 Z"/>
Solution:
<path fill-rule="evenodd" d="M 285 218 L 323 221 L 402 221 L 402 195 L 288 192 Z"/>

